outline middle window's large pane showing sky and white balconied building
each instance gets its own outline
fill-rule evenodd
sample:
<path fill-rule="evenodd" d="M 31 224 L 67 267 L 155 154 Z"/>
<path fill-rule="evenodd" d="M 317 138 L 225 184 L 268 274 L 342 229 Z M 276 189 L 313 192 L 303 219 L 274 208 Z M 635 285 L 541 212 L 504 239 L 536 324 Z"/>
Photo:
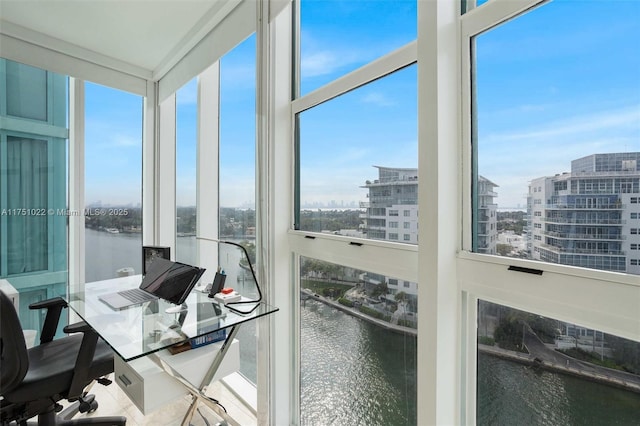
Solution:
<path fill-rule="evenodd" d="M 298 229 L 417 243 L 416 86 L 414 65 L 299 114 Z"/>

